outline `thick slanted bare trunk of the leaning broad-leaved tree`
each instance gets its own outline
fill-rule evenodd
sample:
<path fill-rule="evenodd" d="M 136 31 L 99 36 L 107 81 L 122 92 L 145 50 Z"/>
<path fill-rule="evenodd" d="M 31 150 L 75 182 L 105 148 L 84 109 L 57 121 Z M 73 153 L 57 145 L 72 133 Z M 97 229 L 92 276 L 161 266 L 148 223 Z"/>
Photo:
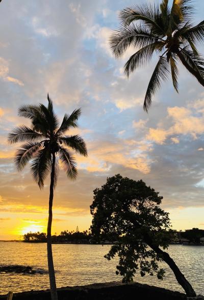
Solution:
<path fill-rule="evenodd" d="M 169 254 L 165 251 L 162 251 L 154 242 L 152 241 L 151 237 L 148 235 L 148 233 L 144 234 L 144 240 L 148 244 L 148 246 L 154 250 L 163 261 L 165 261 L 168 266 L 173 271 L 175 278 L 177 282 L 183 287 L 183 289 L 186 292 L 187 297 L 195 297 L 196 293 L 193 290 L 191 284 L 188 282 L 188 280 L 185 278 L 185 276 L 182 274 L 180 269 L 177 267 L 173 259 L 169 256 Z"/>

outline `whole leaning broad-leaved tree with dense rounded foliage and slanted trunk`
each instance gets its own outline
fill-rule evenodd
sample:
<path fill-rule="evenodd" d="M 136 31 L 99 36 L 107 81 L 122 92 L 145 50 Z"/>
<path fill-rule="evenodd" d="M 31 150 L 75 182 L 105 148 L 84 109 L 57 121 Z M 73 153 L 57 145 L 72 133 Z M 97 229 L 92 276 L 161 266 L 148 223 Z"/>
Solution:
<path fill-rule="evenodd" d="M 179 267 L 163 251 L 168 247 L 170 229 L 168 213 L 159 206 L 163 197 L 142 180 L 123 178 L 119 174 L 107 178 L 106 184 L 93 193 L 92 234 L 95 239 L 114 241 L 105 257 L 110 260 L 118 255 L 116 274 L 123 276 L 123 282 L 132 281 L 137 269 L 141 276 L 156 273 L 162 279 L 165 270 L 159 268 L 158 262 L 164 261 L 187 296 L 196 296 Z"/>

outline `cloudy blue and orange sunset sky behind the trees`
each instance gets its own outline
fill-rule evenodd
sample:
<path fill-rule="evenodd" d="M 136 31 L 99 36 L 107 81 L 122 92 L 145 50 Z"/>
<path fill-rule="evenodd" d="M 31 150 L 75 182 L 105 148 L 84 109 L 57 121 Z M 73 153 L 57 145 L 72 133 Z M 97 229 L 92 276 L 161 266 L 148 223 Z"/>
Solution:
<path fill-rule="evenodd" d="M 179 66 L 179 94 L 171 80 L 143 111 L 145 91 L 157 58 L 129 79 L 109 47 L 119 10 L 143 0 L 3 0 L 0 6 L 0 240 L 46 231 L 49 180 L 42 191 L 29 166 L 18 173 L 9 145 L 13 127 L 29 125 L 17 116 L 22 104 L 53 99 L 62 120 L 82 108 L 79 133 L 88 158 L 76 156 L 79 175 L 60 170 L 54 198 L 53 233 L 86 230 L 93 189 L 120 173 L 144 180 L 164 197 L 172 228 L 204 229 L 204 90 Z M 195 0 L 195 23 L 203 0 Z M 203 53 L 203 45 L 200 46 Z"/>

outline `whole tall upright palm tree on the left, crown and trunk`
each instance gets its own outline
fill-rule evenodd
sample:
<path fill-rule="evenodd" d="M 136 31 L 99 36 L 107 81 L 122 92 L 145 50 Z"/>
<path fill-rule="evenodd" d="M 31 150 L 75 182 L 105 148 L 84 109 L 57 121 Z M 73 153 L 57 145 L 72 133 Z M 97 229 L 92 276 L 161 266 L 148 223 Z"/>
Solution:
<path fill-rule="evenodd" d="M 70 179 L 77 177 L 77 163 L 70 153 L 70 149 L 81 155 L 87 156 L 84 140 L 80 135 L 65 135 L 71 127 L 77 127 L 77 121 L 81 110 L 74 110 L 69 116 L 65 114 L 61 126 L 53 111 L 53 102 L 47 95 L 48 106 L 23 105 L 19 107 L 18 115 L 31 119 L 31 127 L 21 125 L 15 127 L 8 135 L 11 144 L 24 142 L 15 154 L 15 163 L 18 171 L 31 160 L 31 173 L 40 189 L 44 186 L 44 180 L 50 173 L 49 188 L 49 216 L 47 223 L 47 261 L 49 270 L 50 293 L 52 300 L 57 300 L 55 270 L 52 254 L 52 219 L 53 196 L 57 184 L 58 161 L 61 160 L 67 176 Z M 67 149 L 68 148 L 68 149 Z"/>

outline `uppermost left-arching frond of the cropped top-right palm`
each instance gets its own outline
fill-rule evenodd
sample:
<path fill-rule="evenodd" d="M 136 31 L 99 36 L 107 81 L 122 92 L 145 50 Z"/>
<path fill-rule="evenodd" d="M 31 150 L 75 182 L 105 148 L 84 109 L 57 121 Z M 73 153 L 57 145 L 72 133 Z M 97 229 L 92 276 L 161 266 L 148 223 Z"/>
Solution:
<path fill-rule="evenodd" d="M 159 36 L 164 36 L 164 29 L 161 26 L 159 7 L 151 4 L 135 5 L 127 7 L 119 12 L 121 24 L 129 26 L 133 21 L 142 21 L 147 28 Z"/>

